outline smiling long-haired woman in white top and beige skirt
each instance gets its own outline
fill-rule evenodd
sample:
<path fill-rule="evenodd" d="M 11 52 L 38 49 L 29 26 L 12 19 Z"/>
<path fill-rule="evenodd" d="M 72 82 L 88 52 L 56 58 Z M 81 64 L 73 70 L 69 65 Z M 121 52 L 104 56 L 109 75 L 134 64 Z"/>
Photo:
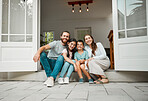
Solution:
<path fill-rule="evenodd" d="M 106 56 L 103 45 L 95 43 L 91 35 L 85 35 L 85 49 L 88 51 L 89 59 L 86 63 L 89 73 L 96 75 L 99 79 L 94 81 L 96 84 L 108 83 L 109 80 L 104 74 L 104 70 L 110 66 L 109 58 Z"/>

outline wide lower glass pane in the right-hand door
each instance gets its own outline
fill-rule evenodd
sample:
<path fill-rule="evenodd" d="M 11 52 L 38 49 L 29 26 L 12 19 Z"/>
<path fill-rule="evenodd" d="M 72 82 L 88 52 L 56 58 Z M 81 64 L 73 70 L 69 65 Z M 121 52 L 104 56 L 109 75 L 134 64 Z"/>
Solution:
<path fill-rule="evenodd" d="M 138 37 L 146 35 L 147 35 L 147 29 L 137 29 L 137 30 L 127 31 L 127 37 Z"/>

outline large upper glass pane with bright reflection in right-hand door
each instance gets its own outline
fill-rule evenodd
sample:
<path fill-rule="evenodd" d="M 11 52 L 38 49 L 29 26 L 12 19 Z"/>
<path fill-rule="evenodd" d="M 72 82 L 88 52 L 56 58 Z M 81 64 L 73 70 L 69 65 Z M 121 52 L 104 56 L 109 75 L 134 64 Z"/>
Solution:
<path fill-rule="evenodd" d="M 126 0 L 127 29 L 146 26 L 146 0 Z"/>

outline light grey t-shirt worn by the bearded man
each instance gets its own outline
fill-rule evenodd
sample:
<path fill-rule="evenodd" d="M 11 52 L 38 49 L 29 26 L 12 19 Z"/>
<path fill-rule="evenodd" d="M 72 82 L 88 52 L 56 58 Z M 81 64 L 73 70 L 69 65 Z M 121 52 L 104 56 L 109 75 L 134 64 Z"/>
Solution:
<path fill-rule="evenodd" d="M 62 51 L 66 48 L 66 46 L 62 45 L 62 42 L 60 40 L 49 43 L 49 46 L 51 48 L 48 52 L 47 57 L 50 59 L 57 59 L 58 56 L 61 55 Z"/>

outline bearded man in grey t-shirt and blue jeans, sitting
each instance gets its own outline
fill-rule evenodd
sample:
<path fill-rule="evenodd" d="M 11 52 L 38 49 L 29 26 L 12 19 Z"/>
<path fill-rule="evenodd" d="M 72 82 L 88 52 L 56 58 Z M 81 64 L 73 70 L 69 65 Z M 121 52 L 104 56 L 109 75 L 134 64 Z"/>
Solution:
<path fill-rule="evenodd" d="M 34 55 L 33 60 L 37 62 L 40 59 L 41 64 L 47 75 L 47 80 L 44 82 L 47 87 L 54 86 L 54 80 L 56 79 L 59 71 L 64 63 L 64 57 L 61 55 L 63 49 L 66 48 L 67 41 L 70 38 L 70 33 L 64 31 L 60 36 L 61 40 L 53 41 L 47 45 L 40 47 L 37 53 Z M 44 50 L 50 49 L 48 56 Z"/>

